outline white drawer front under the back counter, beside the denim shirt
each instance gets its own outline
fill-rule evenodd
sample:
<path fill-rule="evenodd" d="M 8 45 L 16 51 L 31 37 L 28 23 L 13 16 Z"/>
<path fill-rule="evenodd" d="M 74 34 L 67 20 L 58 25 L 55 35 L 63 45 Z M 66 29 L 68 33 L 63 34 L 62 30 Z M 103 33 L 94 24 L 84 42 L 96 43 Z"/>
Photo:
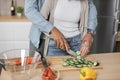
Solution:
<path fill-rule="evenodd" d="M 16 22 L 14 27 L 14 41 L 28 41 L 30 22 Z"/>

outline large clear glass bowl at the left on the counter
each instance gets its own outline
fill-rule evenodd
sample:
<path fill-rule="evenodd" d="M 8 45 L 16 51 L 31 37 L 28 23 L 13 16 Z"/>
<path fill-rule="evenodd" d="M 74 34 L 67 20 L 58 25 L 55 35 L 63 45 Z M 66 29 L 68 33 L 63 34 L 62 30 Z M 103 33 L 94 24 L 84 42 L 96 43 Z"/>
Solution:
<path fill-rule="evenodd" d="M 40 61 L 40 54 L 27 49 L 14 49 L 0 53 L 0 59 L 5 61 L 6 71 L 12 80 L 30 80 Z"/>

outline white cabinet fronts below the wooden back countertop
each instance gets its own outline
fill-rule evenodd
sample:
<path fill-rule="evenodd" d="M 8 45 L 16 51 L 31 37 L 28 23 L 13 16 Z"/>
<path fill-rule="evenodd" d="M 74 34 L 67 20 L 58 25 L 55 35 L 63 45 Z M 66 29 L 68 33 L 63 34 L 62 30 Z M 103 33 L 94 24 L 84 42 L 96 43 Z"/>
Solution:
<path fill-rule="evenodd" d="M 0 52 L 29 48 L 31 22 L 0 22 Z"/>

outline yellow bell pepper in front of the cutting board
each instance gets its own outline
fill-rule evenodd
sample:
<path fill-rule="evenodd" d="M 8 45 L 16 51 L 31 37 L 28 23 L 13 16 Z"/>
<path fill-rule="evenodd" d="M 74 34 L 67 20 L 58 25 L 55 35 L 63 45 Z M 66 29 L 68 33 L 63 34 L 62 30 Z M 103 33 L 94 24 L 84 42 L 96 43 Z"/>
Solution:
<path fill-rule="evenodd" d="M 96 70 L 88 67 L 81 68 L 80 70 L 80 80 L 95 80 Z"/>

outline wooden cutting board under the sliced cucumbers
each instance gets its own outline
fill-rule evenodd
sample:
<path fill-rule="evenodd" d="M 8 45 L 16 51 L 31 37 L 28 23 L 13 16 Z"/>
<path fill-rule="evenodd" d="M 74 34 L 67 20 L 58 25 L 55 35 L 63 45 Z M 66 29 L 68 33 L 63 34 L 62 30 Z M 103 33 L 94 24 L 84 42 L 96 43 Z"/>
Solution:
<path fill-rule="evenodd" d="M 69 71 L 69 70 L 80 70 L 80 68 L 76 68 L 73 66 L 67 66 L 64 67 L 62 66 L 62 64 L 64 63 L 64 59 L 66 58 L 72 58 L 71 56 L 62 56 L 62 57 L 47 57 L 47 62 L 51 64 L 51 67 L 55 70 L 60 70 L 60 71 Z M 96 61 L 94 58 L 89 57 L 86 58 L 87 60 L 92 60 L 92 61 Z M 92 67 L 94 69 L 102 69 L 102 65 L 97 66 L 97 67 Z"/>

